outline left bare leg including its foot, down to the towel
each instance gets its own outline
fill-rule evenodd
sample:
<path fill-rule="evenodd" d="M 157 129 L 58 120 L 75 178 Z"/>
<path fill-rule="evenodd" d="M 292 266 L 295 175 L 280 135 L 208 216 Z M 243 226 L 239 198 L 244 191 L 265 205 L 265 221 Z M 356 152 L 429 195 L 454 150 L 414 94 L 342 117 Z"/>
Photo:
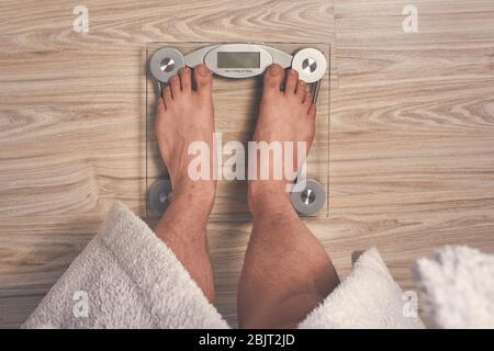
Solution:
<path fill-rule="evenodd" d="M 188 147 L 193 141 L 205 141 L 213 149 L 213 114 L 211 71 L 201 65 L 193 73 L 184 68 L 180 77 L 171 78 L 159 99 L 155 125 L 173 189 L 173 200 L 155 233 L 173 250 L 210 302 L 214 302 L 214 283 L 206 223 L 215 184 L 212 180 L 191 180 L 188 167 L 192 156 L 188 155 Z"/>

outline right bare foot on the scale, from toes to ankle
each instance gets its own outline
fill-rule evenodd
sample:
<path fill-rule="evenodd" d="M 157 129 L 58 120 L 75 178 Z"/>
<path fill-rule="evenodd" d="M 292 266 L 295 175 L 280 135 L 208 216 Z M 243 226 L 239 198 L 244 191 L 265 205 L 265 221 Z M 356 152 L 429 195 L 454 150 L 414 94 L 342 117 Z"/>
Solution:
<path fill-rule="evenodd" d="M 284 82 L 284 91 L 281 90 Z M 299 73 L 290 69 L 285 72 L 281 66 L 271 65 L 265 73 L 262 100 L 259 107 L 255 141 L 297 141 L 306 143 L 306 152 L 312 146 L 315 135 L 316 106 L 312 103 L 312 94 L 308 86 L 299 80 Z M 296 160 L 294 152 L 293 163 L 299 169 L 304 159 Z M 305 155 L 306 156 L 306 155 Z M 273 160 L 270 158 L 272 169 Z M 262 167 L 262 165 L 260 165 Z M 272 172 L 271 172 L 272 174 Z M 282 180 L 256 180 L 249 182 L 249 206 L 252 210 L 254 202 L 282 197 L 288 200 L 285 185 L 289 182 Z M 267 195 L 267 194 L 271 195 Z"/>

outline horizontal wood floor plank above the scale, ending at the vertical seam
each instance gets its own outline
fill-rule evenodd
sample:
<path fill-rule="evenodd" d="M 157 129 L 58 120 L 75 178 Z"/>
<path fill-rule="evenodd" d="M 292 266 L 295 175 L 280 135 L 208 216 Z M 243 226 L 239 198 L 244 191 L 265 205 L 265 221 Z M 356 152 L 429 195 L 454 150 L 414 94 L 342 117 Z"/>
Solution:
<path fill-rule="evenodd" d="M 308 0 L 88 0 L 89 35 L 72 31 L 75 4 L 2 1 L 2 45 L 25 50 L 101 49 L 149 42 L 327 42 L 334 38 L 333 1 Z M 10 45 L 9 45 L 10 44 Z"/>

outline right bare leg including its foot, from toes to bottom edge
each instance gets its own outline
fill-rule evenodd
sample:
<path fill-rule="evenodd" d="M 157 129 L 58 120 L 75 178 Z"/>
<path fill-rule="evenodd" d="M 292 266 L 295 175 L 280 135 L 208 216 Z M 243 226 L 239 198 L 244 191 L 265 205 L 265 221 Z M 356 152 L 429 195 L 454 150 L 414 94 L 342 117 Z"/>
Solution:
<path fill-rule="evenodd" d="M 288 72 L 284 92 L 283 80 L 281 67 L 271 66 L 254 140 L 306 141 L 308 150 L 316 115 L 312 97 L 295 71 Z M 339 283 L 323 246 L 293 210 L 285 185 L 284 180 L 249 182 L 254 230 L 238 291 L 243 328 L 296 327 Z"/>

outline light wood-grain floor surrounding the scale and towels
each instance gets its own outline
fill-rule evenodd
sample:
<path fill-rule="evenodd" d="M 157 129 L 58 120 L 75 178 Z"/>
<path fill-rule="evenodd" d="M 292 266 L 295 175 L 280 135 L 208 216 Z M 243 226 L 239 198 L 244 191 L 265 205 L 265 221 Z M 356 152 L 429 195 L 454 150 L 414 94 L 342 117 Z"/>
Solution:
<path fill-rule="evenodd" d="M 42 5 L 41 5 L 42 4 Z M 494 252 L 494 2 L 68 0 L 0 3 L 0 327 L 18 327 L 115 200 L 145 211 L 149 42 L 328 43 L 329 217 L 306 219 L 345 276 L 375 246 L 403 288 L 441 245 Z M 250 226 L 212 222 L 235 325 Z"/>

